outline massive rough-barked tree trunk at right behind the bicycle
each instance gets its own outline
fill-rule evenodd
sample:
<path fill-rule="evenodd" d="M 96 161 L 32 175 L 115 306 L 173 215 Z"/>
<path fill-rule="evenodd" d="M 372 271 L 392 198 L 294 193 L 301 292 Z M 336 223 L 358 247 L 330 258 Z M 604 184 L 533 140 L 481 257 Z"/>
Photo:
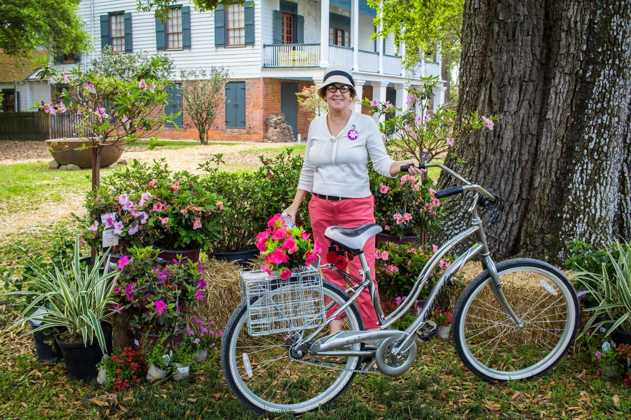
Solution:
<path fill-rule="evenodd" d="M 457 148 L 464 162 L 447 165 L 504 199 L 488 232 L 497 259 L 559 260 L 572 240 L 602 247 L 615 233 L 628 238 L 630 8 L 631 0 L 466 1 L 458 115 L 498 120 Z M 444 204 L 439 238 L 468 222 L 463 201 Z"/>

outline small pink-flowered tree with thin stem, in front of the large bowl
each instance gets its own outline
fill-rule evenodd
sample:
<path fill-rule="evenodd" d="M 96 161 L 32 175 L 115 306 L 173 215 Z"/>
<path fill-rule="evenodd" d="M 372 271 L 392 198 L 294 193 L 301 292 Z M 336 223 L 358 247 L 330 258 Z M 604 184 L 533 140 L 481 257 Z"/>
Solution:
<path fill-rule="evenodd" d="M 39 78 L 50 78 L 61 86 L 59 100 L 35 103 L 51 115 L 70 120 L 76 137 L 86 139 L 92 152 L 92 190 L 100 184 L 103 147 L 118 147 L 148 139 L 150 149 L 160 145 L 157 134 L 165 123 L 174 124 L 177 114 L 164 115 L 168 82 L 155 78 L 167 63 L 160 57 L 138 69 L 134 78 L 121 79 L 84 72 L 80 67 L 58 73 L 46 57 L 36 61 Z M 177 125 L 176 125 L 177 126 Z"/>

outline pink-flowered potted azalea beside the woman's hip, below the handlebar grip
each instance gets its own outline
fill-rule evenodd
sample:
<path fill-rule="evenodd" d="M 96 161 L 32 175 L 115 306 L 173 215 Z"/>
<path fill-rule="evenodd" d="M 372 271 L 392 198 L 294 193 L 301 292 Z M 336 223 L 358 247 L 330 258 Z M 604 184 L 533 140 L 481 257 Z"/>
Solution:
<path fill-rule="evenodd" d="M 369 178 L 375 197 L 375 220 L 384 233 L 401 238 L 440 226 L 442 207 L 431 178 L 422 184 L 414 175 L 388 178 L 374 171 Z"/>

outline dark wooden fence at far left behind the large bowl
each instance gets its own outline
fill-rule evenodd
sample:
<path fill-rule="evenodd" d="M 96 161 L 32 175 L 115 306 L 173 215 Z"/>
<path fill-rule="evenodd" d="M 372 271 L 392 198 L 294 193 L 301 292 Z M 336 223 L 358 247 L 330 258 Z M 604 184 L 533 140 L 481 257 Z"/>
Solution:
<path fill-rule="evenodd" d="M 78 119 L 37 112 L 0 112 L 0 139 L 47 140 L 76 137 L 74 127 Z"/>

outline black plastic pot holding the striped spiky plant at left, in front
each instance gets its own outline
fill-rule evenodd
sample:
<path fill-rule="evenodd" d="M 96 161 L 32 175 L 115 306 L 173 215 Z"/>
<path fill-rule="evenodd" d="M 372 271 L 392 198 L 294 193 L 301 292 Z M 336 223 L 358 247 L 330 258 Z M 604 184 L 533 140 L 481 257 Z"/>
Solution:
<path fill-rule="evenodd" d="M 103 333 L 105 334 L 107 353 L 112 354 L 112 327 L 107 324 Z M 83 340 L 77 344 L 66 344 L 60 340 L 60 335 L 56 336 L 55 341 L 59 349 L 61 349 L 70 379 L 91 381 L 97 377 L 97 364 L 103 358 L 103 352 L 101 347 L 98 346 L 96 338 L 92 341 L 92 344 L 88 342 L 88 346 L 83 346 Z"/>

